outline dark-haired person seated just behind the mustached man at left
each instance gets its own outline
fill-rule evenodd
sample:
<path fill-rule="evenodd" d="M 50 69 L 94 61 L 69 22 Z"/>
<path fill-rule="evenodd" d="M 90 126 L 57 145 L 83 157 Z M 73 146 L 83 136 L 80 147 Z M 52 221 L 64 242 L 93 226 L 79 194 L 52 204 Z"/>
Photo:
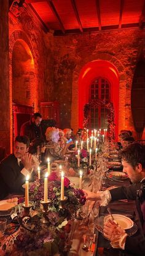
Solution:
<path fill-rule="evenodd" d="M 42 163 L 44 160 L 44 153 L 45 153 L 45 140 L 44 139 L 34 139 L 31 142 L 31 146 L 29 147 L 28 152 L 33 155 L 33 168 L 34 171 L 37 170 L 39 164 Z M 44 163 L 45 164 L 45 163 Z"/>

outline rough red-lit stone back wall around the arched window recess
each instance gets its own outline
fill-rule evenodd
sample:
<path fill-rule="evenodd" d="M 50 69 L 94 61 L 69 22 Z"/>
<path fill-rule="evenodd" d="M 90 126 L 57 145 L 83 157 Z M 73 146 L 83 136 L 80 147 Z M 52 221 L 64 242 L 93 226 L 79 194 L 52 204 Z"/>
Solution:
<path fill-rule="evenodd" d="M 61 103 L 61 126 L 78 127 L 78 80 L 90 61 L 110 61 L 119 71 L 119 130 L 135 133 L 131 117 L 131 85 L 139 54 L 145 47 L 144 30 L 120 30 L 55 36 L 55 98 Z M 63 93 L 61 93 L 63 92 Z M 72 109 L 72 112 L 71 112 Z M 76 124 L 75 124 L 76 122 Z"/>

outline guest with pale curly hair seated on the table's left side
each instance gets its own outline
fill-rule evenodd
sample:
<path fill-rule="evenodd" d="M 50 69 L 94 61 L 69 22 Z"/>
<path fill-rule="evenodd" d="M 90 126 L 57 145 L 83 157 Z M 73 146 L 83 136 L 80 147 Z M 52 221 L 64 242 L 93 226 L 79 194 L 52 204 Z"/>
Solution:
<path fill-rule="evenodd" d="M 68 149 L 69 145 L 71 145 L 72 142 L 65 143 L 65 147 L 61 148 L 59 144 L 59 129 L 56 129 L 55 127 L 48 127 L 45 132 L 45 137 L 47 140 L 47 145 L 49 147 L 52 147 L 49 149 L 50 154 L 53 157 L 61 158 L 65 155 L 66 150 Z"/>

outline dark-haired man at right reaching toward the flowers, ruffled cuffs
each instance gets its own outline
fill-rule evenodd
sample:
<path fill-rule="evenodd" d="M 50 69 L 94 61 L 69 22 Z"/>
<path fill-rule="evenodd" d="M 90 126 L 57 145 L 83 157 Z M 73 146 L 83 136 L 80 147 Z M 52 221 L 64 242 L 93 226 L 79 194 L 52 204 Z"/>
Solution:
<path fill-rule="evenodd" d="M 106 190 L 104 192 L 92 193 L 84 190 L 87 193 L 88 200 L 100 200 L 101 205 L 107 205 L 110 201 L 119 199 L 136 199 L 136 192 L 143 186 L 145 182 L 145 145 L 140 145 L 139 143 L 132 143 L 127 148 L 122 150 L 122 165 L 123 172 L 128 174 L 131 184 L 128 187 L 117 187 L 116 189 Z M 139 203 L 136 204 L 138 206 Z M 142 206 L 142 205 L 141 205 Z M 144 206 L 144 205 L 143 205 Z M 138 208 L 138 213 L 143 220 L 143 215 L 141 215 L 142 208 Z M 125 231 L 117 226 L 112 221 L 104 224 L 104 236 L 111 239 L 112 247 L 121 248 L 127 252 L 131 252 L 135 255 L 144 255 L 145 252 L 145 239 L 139 241 L 137 237 L 128 237 Z"/>

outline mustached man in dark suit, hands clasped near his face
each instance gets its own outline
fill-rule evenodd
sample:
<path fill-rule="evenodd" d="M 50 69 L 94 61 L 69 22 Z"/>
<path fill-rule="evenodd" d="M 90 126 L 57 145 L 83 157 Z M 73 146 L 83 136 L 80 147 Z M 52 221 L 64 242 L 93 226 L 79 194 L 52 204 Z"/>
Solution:
<path fill-rule="evenodd" d="M 31 175 L 32 155 L 27 153 L 29 139 L 17 136 L 14 143 L 14 153 L 7 156 L 0 164 L 0 199 L 9 194 L 22 194 L 22 185 L 26 176 Z"/>

